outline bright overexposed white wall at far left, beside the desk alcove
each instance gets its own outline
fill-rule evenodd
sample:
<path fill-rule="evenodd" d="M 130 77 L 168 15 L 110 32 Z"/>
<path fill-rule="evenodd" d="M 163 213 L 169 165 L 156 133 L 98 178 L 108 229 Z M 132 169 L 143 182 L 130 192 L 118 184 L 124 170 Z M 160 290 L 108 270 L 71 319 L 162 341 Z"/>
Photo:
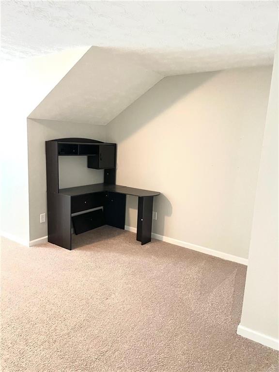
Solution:
<path fill-rule="evenodd" d="M 29 244 L 27 116 L 88 48 L 1 65 L 1 234 Z"/>

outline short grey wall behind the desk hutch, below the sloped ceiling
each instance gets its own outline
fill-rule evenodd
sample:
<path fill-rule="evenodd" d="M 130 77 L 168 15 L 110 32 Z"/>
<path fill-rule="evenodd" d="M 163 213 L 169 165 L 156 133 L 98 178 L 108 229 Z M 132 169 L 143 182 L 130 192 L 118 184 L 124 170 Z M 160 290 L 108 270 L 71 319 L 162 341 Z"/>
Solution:
<path fill-rule="evenodd" d="M 105 140 L 102 125 L 28 119 L 29 214 L 30 240 L 47 235 L 47 222 L 40 223 L 40 214 L 47 214 L 47 178 L 45 141 L 57 138 L 83 137 Z M 87 168 L 87 157 L 60 156 L 60 188 L 103 182 L 103 171 Z"/>

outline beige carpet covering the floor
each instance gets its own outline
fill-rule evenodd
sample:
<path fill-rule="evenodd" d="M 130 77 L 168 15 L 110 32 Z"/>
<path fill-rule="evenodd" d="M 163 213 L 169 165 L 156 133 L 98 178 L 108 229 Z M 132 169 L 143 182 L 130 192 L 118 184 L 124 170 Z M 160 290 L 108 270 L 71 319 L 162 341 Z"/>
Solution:
<path fill-rule="evenodd" d="M 246 267 L 101 227 L 2 244 L 3 372 L 273 372 L 278 353 L 236 335 Z"/>

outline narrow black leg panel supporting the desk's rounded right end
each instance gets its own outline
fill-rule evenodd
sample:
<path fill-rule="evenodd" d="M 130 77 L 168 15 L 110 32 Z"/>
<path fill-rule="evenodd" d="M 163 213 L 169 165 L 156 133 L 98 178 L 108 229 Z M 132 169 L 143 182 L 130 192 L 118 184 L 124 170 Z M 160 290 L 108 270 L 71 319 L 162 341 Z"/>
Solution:
<path fill-rule="evenodd" d="M 140 196 L 138 203 L 137 240 L 141 245 L 151 241 L 153 196 Z"/>

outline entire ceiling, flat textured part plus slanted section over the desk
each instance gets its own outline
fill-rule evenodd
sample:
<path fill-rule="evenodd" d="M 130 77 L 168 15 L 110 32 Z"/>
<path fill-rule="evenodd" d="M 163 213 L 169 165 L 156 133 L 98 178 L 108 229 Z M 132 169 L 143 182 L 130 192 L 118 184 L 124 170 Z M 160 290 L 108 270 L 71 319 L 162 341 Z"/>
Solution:
<path fill-rule="evenodd" d="M 164 76 L 271 64 L 275 1 L 1 2 L 6 60 L 93 45 L 29 117 L 108 124 Z"/>

